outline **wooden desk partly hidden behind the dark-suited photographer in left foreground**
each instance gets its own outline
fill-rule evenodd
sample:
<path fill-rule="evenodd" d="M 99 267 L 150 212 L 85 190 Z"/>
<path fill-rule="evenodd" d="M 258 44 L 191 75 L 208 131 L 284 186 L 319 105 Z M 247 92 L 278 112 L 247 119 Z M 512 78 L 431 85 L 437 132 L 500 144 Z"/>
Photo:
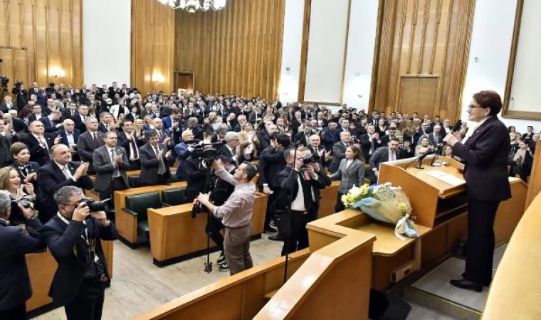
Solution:
<path fill-rule="evenodd" d="M 107 271 L 112 278 L 112 250 L 114 242 L 102 241 L 103 253 L 107 260 Z M 51 304 L 53 299 L 48 296 L 53 276 L 56 272 L 58 264 L 51 255 L 49 250 L 40 253 L 29 253 L 26 255 L 26 265 L 28 267 L 28 275 L 32 285 L 32 297 L 26 301 L 26 311 Z"/>

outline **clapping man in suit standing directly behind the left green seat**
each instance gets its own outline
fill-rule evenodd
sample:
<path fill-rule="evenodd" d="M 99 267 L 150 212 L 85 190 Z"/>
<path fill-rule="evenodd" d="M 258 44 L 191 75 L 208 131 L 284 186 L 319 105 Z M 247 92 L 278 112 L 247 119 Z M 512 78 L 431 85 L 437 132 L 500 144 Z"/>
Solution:
<path fill-rule="evenodd" d="M 167 151 L 165 144 L 159 143 L 158 133 L 154 130 L 147 132 L 147 140 L 148 143 L 139 149 L 141 182 L 145 186 L 167 183 L 171 178 L 169 166 L 174 163 L 172 152 Z"/>

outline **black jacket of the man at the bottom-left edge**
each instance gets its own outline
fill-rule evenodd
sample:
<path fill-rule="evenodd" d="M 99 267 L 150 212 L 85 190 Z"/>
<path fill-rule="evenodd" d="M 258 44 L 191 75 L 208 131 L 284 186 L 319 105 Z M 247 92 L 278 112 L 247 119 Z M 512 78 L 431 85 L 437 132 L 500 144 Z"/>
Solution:
<path fill-rule="evenodd" d="M 41 230 L 38 219 L 28 220 L 26 224 L 36 232 Z M 19 306 L 32 296 L 25 254 L 44 248 L 38 238 L 0 220 L 0 310 Z"/>

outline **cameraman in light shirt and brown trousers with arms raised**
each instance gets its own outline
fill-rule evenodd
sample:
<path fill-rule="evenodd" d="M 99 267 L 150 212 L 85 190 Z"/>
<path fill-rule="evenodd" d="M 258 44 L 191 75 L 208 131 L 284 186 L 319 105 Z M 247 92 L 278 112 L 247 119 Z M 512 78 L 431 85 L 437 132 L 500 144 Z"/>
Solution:
<path fill-rule="evenodd" d="M 201 205 L 206 206 L 216 218 L 222 218 L 225 227 L 224 251 L 231 275 L 253 267 L 250 255 L 252 233 L 251 218 L 253 202 L 256 199 L 256 186 L 251 182 L 257 174 L 257 168 L 249 162 L 243 162 L 235 174 L 229 174 L 219 161 L 214 161 L 212 168 L 216 176 L 235 186 L 235 190 L 222 206 L 215 206 L 209 201 L 209 193 L 197 197 Z"/>

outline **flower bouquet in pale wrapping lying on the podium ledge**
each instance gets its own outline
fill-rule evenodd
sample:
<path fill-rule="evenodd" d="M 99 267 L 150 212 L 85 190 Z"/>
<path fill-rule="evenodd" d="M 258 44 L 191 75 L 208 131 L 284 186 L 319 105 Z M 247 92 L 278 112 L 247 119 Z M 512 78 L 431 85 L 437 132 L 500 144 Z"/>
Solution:
<path fill-rule="evenodd" d="M 419 237 L 411 218 L 409 198 L 402 188 L 392 186 L 390 182 L 353 186 L 342 196 L 342 203 L 347 208 L 362 210 L 378 221 L 396 225 L 394 235 L 401 240 Z"/>

